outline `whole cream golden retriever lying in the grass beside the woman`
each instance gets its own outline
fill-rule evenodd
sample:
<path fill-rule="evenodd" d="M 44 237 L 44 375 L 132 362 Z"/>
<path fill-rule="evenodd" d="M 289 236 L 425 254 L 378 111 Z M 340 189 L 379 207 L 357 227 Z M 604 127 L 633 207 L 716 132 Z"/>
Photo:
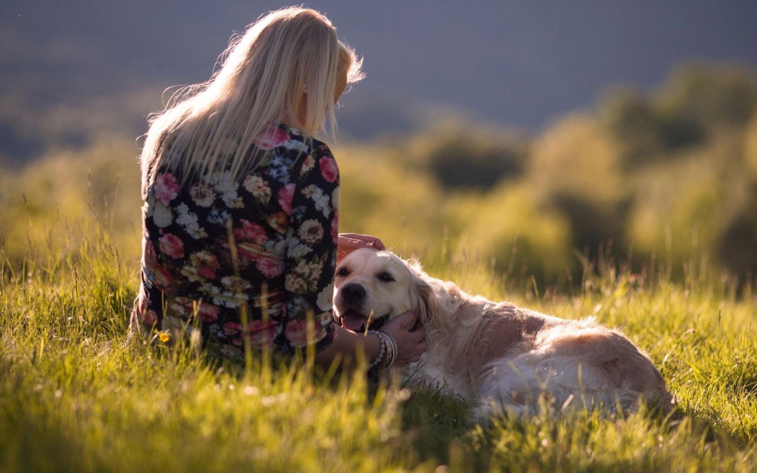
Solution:
<path fill-rule="evenodd" d="M 388 251 L 362 249 L 341 260 L 334 307 L 354 331 L 419 313 L 428 351 L 403 377 L 478 402 L 479 417 L 529 412 L 540 397 L 563 410 L 633 412 L 640 401 L 672 407 L 649 356 L 620 332 L 592 318 L 559 319 L 466 294 Z"/>

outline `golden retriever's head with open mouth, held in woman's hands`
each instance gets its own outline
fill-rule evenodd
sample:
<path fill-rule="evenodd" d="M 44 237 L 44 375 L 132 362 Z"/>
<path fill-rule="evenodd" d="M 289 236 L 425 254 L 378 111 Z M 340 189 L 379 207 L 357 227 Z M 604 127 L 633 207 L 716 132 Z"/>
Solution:
<path fill-rule="evenodd" d="M 441 307 L 425 279 L 419 266 L 389 251 L 353 251 L 336 268 L 334 308 L 341 325 L 353 331 L 378 328 L 407 312 L 434 325 Z"/>

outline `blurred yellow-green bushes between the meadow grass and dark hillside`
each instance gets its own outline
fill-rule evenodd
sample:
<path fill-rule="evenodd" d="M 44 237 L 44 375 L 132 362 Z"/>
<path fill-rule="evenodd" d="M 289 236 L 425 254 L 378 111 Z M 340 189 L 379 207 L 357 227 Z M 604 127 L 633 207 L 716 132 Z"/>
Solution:
<path fill-rule="evenodd" d="M 650 93 L 616 89 L 534 137 L 461 122 L 339 143 L 341 231 L 378 235 L 406 256 L 475 255 L 509 278 L 575 275 L 576 253 L 592 259 L 609 245 L 637 267 L 703 258 L 755 275 L 755 110 L 752 70 L 696 64 Z M 5 170 L 6 256 L 29 257 L 30 242 L 95 215 L 136 260 L 138 153 L 111 136 Z"/>

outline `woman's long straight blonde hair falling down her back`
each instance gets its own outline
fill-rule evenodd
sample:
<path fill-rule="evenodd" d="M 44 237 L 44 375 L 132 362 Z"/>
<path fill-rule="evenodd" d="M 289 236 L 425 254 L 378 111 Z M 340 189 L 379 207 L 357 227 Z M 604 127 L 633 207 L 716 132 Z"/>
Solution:
<path fill-rule="evenodd" d="M 166 110 L 149 120 L 142 165 L 142 197 L 158 170 L 170 169 L 186 181 L 229 170 L 238 179 L 260 160 L 254 139 L 271 123 L 304 123 L 305 138 L 329 118 L 336 128 L 337 73 L 347 83 L 363 79 L 354 49 L 339 41 L 328 18 L 310 8 L 269 12 L 232 37 L 220 70 L 207 82 L 176 92 Z"/>

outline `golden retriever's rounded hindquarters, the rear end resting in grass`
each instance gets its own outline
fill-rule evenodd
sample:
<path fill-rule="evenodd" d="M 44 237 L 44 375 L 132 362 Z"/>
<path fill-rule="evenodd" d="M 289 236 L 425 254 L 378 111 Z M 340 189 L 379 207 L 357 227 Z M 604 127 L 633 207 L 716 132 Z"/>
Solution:
<path fill-rule="evenodd" d="M 521 313 L 544 319 L 532 311 Z M 665 380 L 646 353 L 593 319 L 545 324 L 524 338 L 483 367 L 478 378 L 481 399 L 516 411 L 534 406 L 541 394 L 562 409 L 603 405 L 630 412 L 640 400 L 665 411 L 671 408 Z"/>

